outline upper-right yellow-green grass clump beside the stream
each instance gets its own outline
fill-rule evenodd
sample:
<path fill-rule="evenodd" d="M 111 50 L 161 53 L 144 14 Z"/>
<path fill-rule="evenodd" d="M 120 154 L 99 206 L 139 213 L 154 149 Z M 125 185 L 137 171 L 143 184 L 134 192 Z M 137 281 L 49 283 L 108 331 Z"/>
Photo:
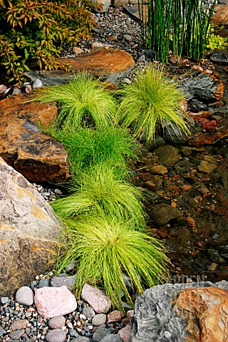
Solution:
<path fill-rule="evenodd" d="M 155 138 L 155 127 L 175 124 L 180 134 L 190 135 L 180 103 L 184 95 L 166 76 L 162 66 L 147 66 L 138 71 L 135 82 L 120 90 L 118 120 L 130 127 L 135 138 L 146 138 L 150 145 Z"/>

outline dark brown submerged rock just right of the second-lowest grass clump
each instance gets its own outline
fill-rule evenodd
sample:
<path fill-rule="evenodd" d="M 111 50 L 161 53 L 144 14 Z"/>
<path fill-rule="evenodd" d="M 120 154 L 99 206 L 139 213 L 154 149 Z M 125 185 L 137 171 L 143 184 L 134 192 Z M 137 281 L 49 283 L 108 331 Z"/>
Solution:
<path fill-rule="evenodd" d="M 165 226 L 165 224 L 170 222 L 170 219 L 176 219 L 177 217 L 182 216 L 182 213 L 171 205 L 162 203 L 155 204 L 150 215 L 155 224 L 158 226 Z"/>

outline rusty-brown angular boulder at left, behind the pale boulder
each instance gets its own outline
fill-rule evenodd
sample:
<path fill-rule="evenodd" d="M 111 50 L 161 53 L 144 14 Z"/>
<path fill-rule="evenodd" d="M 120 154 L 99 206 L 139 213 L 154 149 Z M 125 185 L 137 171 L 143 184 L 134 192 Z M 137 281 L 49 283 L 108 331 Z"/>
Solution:
<path fill-rule="evenodd" d="M 25 95 L 1 100 L 0 157 L 30 181 L 63 182 L 68 178 L 67 153 L 61 142 L 42 133 L 56 118 L 55 103 L 25 103 Z"/>

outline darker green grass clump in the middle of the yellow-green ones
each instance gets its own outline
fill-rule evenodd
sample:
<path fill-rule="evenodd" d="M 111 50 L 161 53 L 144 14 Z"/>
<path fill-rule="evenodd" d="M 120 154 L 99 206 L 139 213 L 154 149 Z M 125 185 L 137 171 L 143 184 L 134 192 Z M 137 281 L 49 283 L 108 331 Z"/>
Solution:
<path fill-rule="evenodd" d="M 83 128 L 66 132 L 51 127 L 46 133 L 63 142 L 68 152 L 71 176 L 77 183 L 83 173 L 102 163 L 112 166 L 117 175 L 128 177 L 128 167 L 138 157 L 138 144 L 125 128 L 105 126 L 97 130 Z"/>

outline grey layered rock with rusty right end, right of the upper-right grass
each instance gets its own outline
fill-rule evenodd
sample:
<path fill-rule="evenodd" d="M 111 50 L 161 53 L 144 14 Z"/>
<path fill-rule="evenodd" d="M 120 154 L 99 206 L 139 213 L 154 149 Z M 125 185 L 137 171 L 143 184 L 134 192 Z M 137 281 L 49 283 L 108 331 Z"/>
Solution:
<path fill-rule="evenodd" d="M 180 88 L 190 100 L 199 98 L 202 100 L 220 100 L 224 93 L 224 84 L 221 81 L 214 81 L 209 76 L 200 75 L 194 80 L 182 82 Z"/>

